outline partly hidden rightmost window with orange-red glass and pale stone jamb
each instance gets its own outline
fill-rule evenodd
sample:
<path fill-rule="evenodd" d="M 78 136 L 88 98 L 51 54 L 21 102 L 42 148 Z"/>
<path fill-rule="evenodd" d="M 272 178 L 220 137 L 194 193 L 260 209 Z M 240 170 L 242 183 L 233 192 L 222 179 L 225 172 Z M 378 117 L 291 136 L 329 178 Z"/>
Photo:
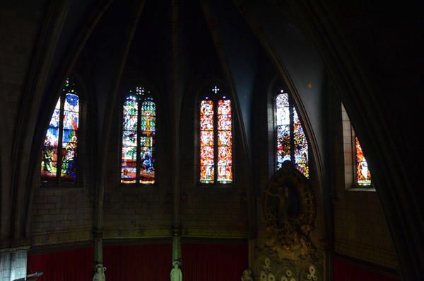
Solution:
<path fill-rule="evenodd" d="M 371 172 L 358 136 L 353 130 L 351 120 L 341 105 L 341 118 L 343 122 L 343 149 L 346 189 L 375 190 L 372 185 Z"/>

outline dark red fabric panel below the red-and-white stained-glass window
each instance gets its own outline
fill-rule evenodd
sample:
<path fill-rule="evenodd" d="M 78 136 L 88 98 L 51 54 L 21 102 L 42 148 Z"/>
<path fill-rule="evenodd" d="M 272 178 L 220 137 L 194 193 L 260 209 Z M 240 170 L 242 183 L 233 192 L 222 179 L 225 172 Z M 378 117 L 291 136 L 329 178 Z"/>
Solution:
<path fill-rule="evenodd" d="M 183 243 L 184 281 L 239 281 L 248 266 L 247 245 Z"/>

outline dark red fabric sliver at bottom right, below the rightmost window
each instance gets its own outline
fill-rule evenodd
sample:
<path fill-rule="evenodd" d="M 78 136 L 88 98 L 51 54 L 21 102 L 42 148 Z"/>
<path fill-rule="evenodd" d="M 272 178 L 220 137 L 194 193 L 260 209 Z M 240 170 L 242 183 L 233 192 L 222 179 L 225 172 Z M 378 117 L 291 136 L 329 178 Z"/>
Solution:
<path fill-rule="evenodd" d="M 333 280 L 334 281 L 398 281 L 400 279 L 387 277 L 385 275 L 372 272 L 365 268 L 358 267 L 344 260 L 333 260 Z"/>

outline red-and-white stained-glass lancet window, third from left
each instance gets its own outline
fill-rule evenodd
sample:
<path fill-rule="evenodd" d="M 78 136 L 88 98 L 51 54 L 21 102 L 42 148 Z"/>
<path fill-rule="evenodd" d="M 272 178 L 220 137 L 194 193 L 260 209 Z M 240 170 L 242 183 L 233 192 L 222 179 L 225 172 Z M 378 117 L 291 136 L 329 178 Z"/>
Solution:
<path fill-rule="evenodd" d="M 200 183 L 232 182 L 232 104 L 217 86 L 200 102 Z"/>

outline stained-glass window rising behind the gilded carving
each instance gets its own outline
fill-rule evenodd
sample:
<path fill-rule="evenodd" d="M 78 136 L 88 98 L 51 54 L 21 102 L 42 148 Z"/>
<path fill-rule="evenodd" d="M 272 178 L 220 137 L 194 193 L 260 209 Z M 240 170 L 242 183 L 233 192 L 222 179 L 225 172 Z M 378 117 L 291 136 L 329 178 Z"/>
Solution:
<path fill-rule="evenodd" d="M 309 178 L 307 139 L 292 98 L 281 89 L 276 95 L 275 104 L 277 168 L 281 168 L 286 160 L 292 161 Z"/>

